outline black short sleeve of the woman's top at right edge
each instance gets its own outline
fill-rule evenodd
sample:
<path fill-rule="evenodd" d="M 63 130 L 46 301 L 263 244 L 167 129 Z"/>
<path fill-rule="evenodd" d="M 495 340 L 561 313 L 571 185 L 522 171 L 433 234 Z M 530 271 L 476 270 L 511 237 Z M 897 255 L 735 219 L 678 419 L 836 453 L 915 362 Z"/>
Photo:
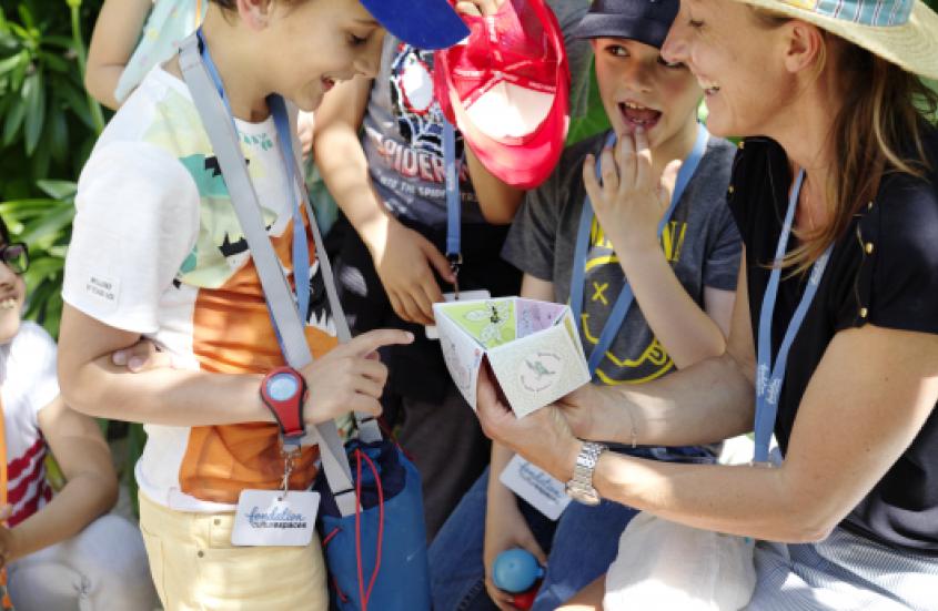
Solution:
<path fill-rule="evenodd" d="M 906 176 L 889 187 L 854 242 L 864 257 L 855 324 L 938 334 L 938 189 Z"/>

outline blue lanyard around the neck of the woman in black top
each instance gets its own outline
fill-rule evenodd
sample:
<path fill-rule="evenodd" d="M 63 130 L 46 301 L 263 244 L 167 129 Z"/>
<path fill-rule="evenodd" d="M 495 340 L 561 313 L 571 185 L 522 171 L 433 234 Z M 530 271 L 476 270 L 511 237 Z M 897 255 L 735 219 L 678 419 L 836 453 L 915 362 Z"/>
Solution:
<path fill-rule="evenodd" d="M 763 307 L 759 312 L 759 337 L 758 337 L 758 367 L 756 369 L 756 451 L 755 462 L 768 462 L 768 444 L 775 428 L 775 417 L 778 413 L 778 398 L 781 395 L 781 384 L 785 378 L 785 369 L 788 366 L 788 350 L 795 342 L 798 329 L 805 320 L 808 307 L 817 294 L 824 269 L 830 259 L 834 244 L 827 247 L 820 258 L 811 266 L 811 274 L 805 294 L 788 323 L 788 329 L 778 347 L 778 355 L 775 357 L 775 366 L 771 365 L 771 317 L 775 312 L 775 302 L 778 297 L 778 284 L 781 276 L 781 261 L 788 245 L 788 236 L 791 234 L 791 224 L 795 218 L 795 208 L 798 207 L 798 194 L 805 181 L 805 171 L 798 173 L 795 187 L 788 198 L 788 212 L 785 214 L 785 224 L 781 226 L 781 235 L 778 236 L 778 246 L 775 250 L 775 264 L 768 278 L 768 286 L 763 296 Z"/>

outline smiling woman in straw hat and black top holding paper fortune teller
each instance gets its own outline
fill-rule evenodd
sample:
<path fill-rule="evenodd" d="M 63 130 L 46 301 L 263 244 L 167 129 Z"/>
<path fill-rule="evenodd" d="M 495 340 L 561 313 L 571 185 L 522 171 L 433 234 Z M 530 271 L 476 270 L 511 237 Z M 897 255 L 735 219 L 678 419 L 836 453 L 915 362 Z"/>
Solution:
<path fill-rule="evenodd" d="M 683 0 L 663 54 L 705 88 L 712 133 L 748 136 L 728 194 L 746 251 L 727 352 L 523 419 L 485 378 L 483 427 L 576 477 L 577 496 L 760 540 L 748 609 L 938 609 L 938 100 L 919 80 L 938 78 L 938 16 L 919 0 Z M 636 140 L 621 139 L 619 172 L 649 167 Z M 581 440 L 704 444 L 754 422 L 756 462 L 778 439 L 775 468 Z"/>

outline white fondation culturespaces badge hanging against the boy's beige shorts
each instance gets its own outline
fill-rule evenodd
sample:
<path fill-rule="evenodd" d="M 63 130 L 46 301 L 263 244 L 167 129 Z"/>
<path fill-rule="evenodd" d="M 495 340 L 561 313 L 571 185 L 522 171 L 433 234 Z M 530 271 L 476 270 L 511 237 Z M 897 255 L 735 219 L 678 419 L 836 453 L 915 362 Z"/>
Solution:
<path fill-rule="evenodd" d="M 299 546 L 313 539 L 320 493 L 242 490 L 231 531 L 232 546 Z"/>

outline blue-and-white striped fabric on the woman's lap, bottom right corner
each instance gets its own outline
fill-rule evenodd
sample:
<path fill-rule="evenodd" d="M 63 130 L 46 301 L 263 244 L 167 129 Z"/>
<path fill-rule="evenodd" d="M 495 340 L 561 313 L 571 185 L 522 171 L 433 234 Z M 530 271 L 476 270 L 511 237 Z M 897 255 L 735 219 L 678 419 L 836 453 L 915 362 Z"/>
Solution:
<path fill-rule="evenodd" d="M 819 543 L 759 542 L 748 611 L 938 611 L 938 558 L 837 528 Z"/>

